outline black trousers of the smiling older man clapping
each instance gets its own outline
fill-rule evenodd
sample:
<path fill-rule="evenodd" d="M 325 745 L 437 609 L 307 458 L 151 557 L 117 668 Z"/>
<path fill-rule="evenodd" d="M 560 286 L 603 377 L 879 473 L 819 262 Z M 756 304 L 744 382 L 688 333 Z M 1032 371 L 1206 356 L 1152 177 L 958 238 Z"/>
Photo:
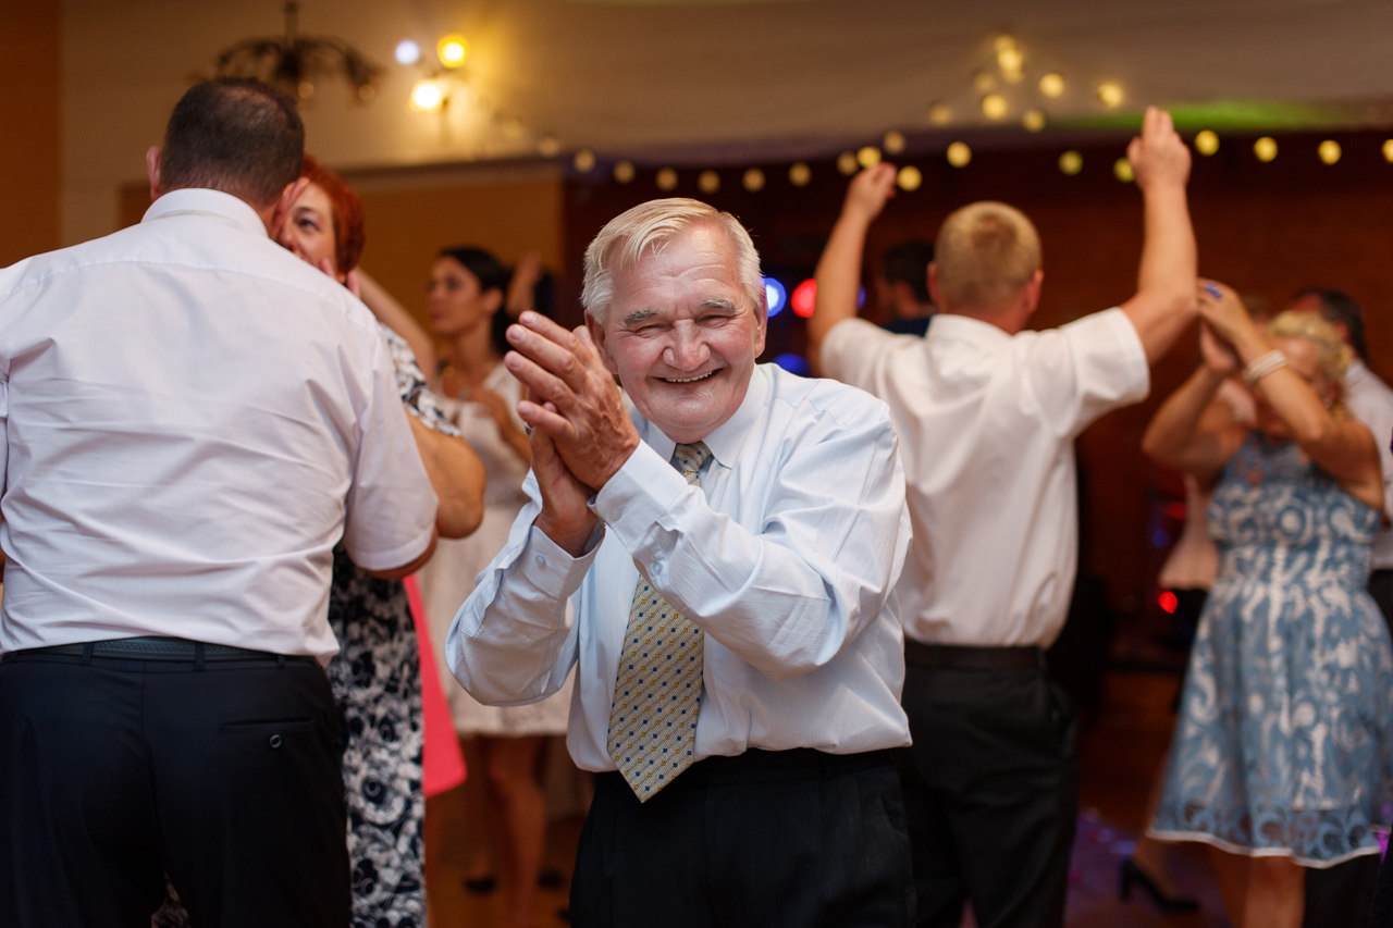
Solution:
<path fill-rule="evenodd" d="M 910 925 L 910 839 L 893 755 L 839 758 L 840 769 L 823 765 L 830 757 L 751 750 L 708 758 L 648 803 L 618 773 L 598 775 L 571 922 Z"/>

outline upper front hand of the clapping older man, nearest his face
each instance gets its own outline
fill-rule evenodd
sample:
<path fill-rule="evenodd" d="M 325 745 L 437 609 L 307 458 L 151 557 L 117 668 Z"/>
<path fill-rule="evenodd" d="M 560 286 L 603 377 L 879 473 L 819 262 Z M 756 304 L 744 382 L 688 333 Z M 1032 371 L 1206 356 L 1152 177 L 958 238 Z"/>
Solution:
<path fill-rule="evenodd" d="M 508 344 L 515 350 L 503 364 L 535 394 L 518 403 L 518 415 L 552 438 L 581 484 L 603 488 L 638 447 L 638 432 L 589 333 L 524 312 Z"/>

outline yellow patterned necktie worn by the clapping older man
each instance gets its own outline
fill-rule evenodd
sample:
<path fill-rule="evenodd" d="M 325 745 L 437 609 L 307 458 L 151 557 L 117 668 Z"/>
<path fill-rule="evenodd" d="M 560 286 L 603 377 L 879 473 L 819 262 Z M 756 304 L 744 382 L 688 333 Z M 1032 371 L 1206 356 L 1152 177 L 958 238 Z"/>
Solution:
<path fill-rule="evenodd" d="M 688 484 L 699 486 L 708 457 L 705 442 L 678 444 L 673 465 Z M 610 704 L 609 750 L 641 803 L 691 766 L 705 638 L 638 575 Z"/>

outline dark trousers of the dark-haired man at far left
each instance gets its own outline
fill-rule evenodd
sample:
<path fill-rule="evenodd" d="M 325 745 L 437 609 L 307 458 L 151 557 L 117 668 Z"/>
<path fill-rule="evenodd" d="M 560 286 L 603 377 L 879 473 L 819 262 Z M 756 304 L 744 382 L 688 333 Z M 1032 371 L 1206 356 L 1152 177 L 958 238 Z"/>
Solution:
<path fill-rule="evenodd" d="M 0 925 L 348 925 L 337 722 L 309 659 L 0 660 Z"/>

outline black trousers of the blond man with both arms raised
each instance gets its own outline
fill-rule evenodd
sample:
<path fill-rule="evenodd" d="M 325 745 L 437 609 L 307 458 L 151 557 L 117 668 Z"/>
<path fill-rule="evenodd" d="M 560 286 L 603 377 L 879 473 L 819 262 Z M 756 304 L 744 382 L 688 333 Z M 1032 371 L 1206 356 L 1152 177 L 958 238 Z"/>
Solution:
<path fill-rule="evenodd" d="M 915 925 L 1064 922 L 1078 815 L 1074 709 L 1043 669 L 905 667 L 900 775 Z"/>

